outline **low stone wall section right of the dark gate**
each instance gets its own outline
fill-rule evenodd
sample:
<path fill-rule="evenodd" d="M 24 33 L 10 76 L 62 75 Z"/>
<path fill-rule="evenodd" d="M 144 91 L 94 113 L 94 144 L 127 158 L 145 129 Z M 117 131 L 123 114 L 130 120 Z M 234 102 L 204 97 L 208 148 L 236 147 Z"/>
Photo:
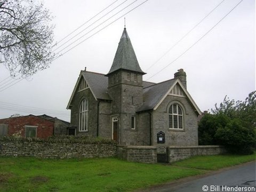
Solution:
<path fill-rule="evenodd" d="M 169 147 L 169 163 L 196 155 L 218 155 L 226 153 L 221 146 Z"/>

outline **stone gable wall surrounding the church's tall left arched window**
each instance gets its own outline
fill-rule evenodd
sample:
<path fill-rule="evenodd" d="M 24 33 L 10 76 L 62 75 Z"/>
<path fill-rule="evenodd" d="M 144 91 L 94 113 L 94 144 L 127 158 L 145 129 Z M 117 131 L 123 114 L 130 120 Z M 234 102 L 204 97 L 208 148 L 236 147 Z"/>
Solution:
<path fill-rule="evenodd" d="M 79 132 L 79 105 L 83 99 L 88 101 L 88 131 Z M 71 120 L 70 126 L 76 127 L 76 134 L 92 135 L 97 136 L 97 115 L 98 115 L 98 105 L 90 89 L 76 92 L 73 101 L 71 103 Z"/>

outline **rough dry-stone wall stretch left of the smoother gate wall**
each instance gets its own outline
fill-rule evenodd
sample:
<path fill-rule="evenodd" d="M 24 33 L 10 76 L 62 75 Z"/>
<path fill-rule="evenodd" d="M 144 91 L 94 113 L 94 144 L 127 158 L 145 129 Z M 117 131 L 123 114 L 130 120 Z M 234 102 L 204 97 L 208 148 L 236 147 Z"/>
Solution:
<path fill-rule="evenodd" d="M 52 143 L 0 140 L 0 156 L 93 158 L 116 156 L 116 144 Z"/>

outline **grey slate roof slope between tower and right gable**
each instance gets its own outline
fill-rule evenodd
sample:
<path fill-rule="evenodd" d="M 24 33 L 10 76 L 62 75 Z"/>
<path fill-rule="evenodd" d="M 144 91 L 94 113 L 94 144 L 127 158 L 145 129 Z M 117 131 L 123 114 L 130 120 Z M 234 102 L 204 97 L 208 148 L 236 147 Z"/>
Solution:
<path fill-rule="evenodd" d="M 175 79 L 153 84 L 143 88 L 143 105 L 138 111 L 154 109 L 164 95 L 169 91 Z"/>

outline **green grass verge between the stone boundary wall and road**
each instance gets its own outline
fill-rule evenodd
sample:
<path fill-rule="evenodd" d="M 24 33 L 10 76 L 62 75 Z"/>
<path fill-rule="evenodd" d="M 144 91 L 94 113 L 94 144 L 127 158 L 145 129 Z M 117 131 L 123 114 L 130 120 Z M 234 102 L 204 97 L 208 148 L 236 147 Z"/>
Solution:
<path fill-rule="evenodd" d="M 255 154 L 199 156 L 171 165 L 0 157 L 0 191 L 132 191 L 253 160 Z"/>

